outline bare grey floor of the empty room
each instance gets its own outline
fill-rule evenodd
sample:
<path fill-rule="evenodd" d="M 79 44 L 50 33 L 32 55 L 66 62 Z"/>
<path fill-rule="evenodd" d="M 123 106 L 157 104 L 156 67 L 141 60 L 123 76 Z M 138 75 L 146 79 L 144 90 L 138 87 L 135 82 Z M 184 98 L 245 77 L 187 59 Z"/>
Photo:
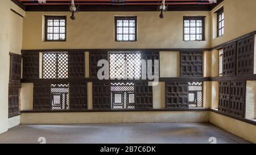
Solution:
<path fill-rule="evenodd" d="M 210 123 L 19 125 L 0 135 L 0 143 L 248 143 Z"/>

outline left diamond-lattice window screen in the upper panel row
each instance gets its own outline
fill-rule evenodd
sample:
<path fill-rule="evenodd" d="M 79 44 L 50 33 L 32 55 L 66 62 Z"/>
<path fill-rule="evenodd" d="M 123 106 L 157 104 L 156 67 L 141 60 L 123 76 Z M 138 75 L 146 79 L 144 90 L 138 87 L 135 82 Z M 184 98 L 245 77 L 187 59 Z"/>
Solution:
<path fill-rule="evenodd" d="M 43 53 L 43 78 L 68 78 L 68 54 Z"/>

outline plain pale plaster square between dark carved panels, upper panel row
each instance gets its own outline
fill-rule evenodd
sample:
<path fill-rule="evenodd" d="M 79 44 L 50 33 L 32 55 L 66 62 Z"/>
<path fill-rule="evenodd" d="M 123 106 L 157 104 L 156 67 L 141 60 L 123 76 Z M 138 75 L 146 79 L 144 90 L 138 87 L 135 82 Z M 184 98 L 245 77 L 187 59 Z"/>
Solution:
<path fill-rule="evenodd" d="M 180 77 L 180 52 L 159 52 L 160 77 Z"/>

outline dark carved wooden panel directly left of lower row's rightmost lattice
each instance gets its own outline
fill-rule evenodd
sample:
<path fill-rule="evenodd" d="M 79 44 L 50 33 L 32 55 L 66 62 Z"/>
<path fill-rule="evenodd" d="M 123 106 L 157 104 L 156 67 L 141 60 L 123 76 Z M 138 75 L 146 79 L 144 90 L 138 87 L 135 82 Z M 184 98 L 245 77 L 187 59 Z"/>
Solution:
<path fill-rule="evenodd" d="M 166 108 L 189 108 L 188 82 L 166 82 Z"/>

